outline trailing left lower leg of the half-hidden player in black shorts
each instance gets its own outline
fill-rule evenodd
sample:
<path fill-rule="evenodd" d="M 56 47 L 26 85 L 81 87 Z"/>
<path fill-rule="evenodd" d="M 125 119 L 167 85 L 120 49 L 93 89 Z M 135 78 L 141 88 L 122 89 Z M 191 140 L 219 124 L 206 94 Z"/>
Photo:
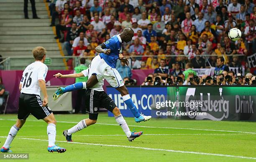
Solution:
<path fill-rule="evenodd" d="M 90 115 L 89 115 L 90 116 Z M 77 123 L 77 125 L 75 125 L 74 127 L 68 129 L 68 130 L 64 130 L 63 131 L 63 135 L 65 136 L 67 142 L 73 142 L 72 140 L 72 134 L 75 132 L 78 132 L 90 125 L 93 125 L 97 122 L 97 119 L 95 120 L 91 120 L 91 119 L 83 119 L 80 122 Z"/>

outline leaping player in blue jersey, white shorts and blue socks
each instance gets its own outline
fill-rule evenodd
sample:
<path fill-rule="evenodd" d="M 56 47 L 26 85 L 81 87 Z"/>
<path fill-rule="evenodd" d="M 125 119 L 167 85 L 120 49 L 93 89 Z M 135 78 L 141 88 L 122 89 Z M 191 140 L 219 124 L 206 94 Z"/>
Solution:
<path fill-rule="evenodd" d="M 132 40 L 133 34 L 134 32 L 131 27 L 125 27 L 120 34 L 114 35 L 106 42 L 97 46 L 95 51 L 100 54 L 93 58 L 90 65 L 92 76 L 87 80 L 87 82 L 78 82 L 67 87 L 60 87 L 53 95 L 54 100 L 56 100 L 65 92 L 70 92 L 82 88 L 94 88 L 98 80 L 105 78 L 112 87 L 115 87 L 121 93 L 125 104 L 135 117 L 135 122 L 145 122 L 150 120 L 151 116 L 146 116 L 138 112 L 138 109 L 131 100 L 129 92 L 125 87 L 119 72 L 115 69 L 122 43 L 130 42 Z M 128 65 L 128 60 L 121 59 L 121 61 Z M 60 76 L 57 75 L 57 77 Z"/>

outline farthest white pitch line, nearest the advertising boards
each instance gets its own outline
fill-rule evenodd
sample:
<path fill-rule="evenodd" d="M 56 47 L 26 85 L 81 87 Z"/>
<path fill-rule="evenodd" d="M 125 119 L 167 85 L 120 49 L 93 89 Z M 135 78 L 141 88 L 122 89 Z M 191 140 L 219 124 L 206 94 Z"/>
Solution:
<path fill-rule="evenodd" d="M 13 119 L 1 119 L 0 120 L 10 120 L 10 121 L 16 121 Z M 29 122 L 43 122 L 41 120 L 27 120 Z M 65 121 L 57 121 L 57 123 L 74 123 L 77 124 L 77 122 L 65 122 Z M 96 125 L 114 125 L 118 126 L 117 124 L 105 124 L 105 123 L 96 123 Z M 24 125 L 26 126 L 26 125 Z M 151 126 L 140 126 L 140 125 L 129 125 L 129 127 L 142 127 L 142 128 L 161 128 L 161 129 L 176 129 L 176 130 L 204 130 L 204 131 L 216 131 L 216 132 L 234 132 L 234 133 L 247 133 L 247 134 L 256 134 L 256 132 L 242 132 L 242 131 L 235 131 L 235 130 L 209 130 L 209 129 L 199 129 L 199 128 L 179 128 L 179 127 L 151 127 Z"/>

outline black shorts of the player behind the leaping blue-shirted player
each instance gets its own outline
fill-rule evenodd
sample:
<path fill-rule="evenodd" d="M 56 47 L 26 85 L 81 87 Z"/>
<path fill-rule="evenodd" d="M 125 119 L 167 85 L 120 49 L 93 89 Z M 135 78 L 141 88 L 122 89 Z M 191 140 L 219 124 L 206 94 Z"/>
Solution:
<path fill-rule="evenodd" d="M 89 113 L 90 120 L 97 120 L 100 108 L 110 112 L 117 107 L 115 102 L 104 91 L 87 89 L 85 91 L 85 110 Z"/>

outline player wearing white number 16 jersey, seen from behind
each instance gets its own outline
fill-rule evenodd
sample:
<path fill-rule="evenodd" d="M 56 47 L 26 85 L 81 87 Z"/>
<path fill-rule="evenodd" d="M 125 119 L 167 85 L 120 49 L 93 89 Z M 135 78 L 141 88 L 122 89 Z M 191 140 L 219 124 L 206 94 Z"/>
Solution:
<path fill-rule="evenodd" d="M 10 144 L 30 114 L 38 120 L 44 120 L 48 124 L 47 134 L 49 145 L 47 150 L 49 152 L 65 152 L 66 149 L 55 145 L 56 120 L 51 109 L 47 106 L 48 95 L 46 91 L 45 78 L 48 67 L 44 64 L 46 49 L 44 47 L 35 47 L 32 53 L 35 58 L 35 62 L 26 67 L 20 81 L 18 120 L 16 124 L 11 127 L 5 144 L 1 148 L 0 152 L 12 152 L 10 150 Z M 43 101 L 40 97 L 40 91 L 42 91 L 44 95 Z"/>

